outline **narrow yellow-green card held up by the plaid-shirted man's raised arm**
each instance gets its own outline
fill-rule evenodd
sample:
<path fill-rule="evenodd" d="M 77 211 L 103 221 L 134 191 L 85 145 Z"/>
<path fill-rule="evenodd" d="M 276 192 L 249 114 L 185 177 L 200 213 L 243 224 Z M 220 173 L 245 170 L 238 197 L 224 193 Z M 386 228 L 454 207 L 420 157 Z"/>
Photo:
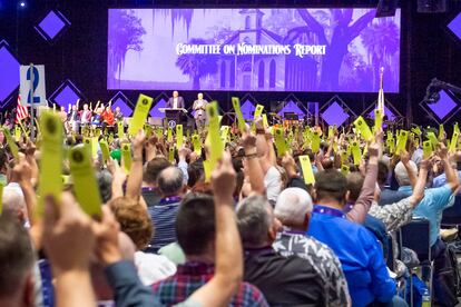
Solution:
<path fill-rule="evenodd" d="M 217 102 L 213 101 L 206 106 L 206 112 L 208 115 L 209 128 L 209 162 L 212 169 L 215 167 L 217 160 L 223 156 L 223 141 L 219 136 L 219 119 L 218 119 L 218 108 Z"/>

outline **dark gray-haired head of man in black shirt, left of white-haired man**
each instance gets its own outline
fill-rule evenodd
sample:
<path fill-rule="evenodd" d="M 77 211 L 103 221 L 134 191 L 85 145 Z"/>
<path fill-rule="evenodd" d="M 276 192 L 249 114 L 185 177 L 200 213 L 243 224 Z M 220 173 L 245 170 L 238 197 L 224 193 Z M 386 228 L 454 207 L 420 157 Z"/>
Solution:
<path fill-rule="evenodd" d="M 245 247 L 266 245 L 273 221 L 272 207 L 263 196 L 251 196 L 237 206 L 237 226 Z"/>

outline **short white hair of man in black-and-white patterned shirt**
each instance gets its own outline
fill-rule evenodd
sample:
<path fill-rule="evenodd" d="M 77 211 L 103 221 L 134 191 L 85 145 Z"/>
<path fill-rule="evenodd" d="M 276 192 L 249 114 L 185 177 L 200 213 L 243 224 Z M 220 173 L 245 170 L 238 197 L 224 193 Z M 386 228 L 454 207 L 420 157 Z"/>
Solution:
<path fill-rule="evenodd" d="M 282 224 L 303 225 L 305 215 L 312 212 L 312 198 L 301 188 L 287 188 L 281 192 L 274 214 Z"/>

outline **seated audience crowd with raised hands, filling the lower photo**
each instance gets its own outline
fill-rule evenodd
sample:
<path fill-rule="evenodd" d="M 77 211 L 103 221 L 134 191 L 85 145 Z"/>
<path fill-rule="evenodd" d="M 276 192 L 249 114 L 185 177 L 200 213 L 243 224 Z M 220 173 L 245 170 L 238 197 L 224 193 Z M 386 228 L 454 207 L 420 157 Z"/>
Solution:
<path fill-rule="evenodd" d="M 71 130 L 65 152 L 95 132 Z M 418 219 L 429 220 L 434 264 L 420 276 L 434 304 L 458 303 L 441 219 L 461 151 L 449 150 L 447 133 L 428 156 L 428 131 L 395 152 L 392 131 L 365 141 L 353 127 L 316 127 L 317 150 L 311 128 L 296 127 L 281 152 L 271 130 L 262 118 L 233 130 L 215 164 L 207 129 L 198 149 L 151 128 L 95 135 L 110 150 L 105 159 L 97 146 L 92 157 L 100 217 L 78 204 L 67 158 L 56 161 L 62 174 L 47 174 L 62 177 L 61 195 L 39 195 L 49 171 L 40 135 L 17 139 L 18 155 L 1 137 L 0 306 L 408 306 L 414 268 L 403 256 L 414 252 L 399 248 L 399 230 Z"/>

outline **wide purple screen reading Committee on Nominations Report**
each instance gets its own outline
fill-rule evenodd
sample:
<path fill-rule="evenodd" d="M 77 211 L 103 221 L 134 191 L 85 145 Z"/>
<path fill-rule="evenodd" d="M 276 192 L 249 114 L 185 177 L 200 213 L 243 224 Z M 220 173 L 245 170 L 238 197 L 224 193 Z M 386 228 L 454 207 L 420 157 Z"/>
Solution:
<path fill-rule="evenodd" d="M 398 92 L 401 12 L 110 9 L 108 89 Z"/>

